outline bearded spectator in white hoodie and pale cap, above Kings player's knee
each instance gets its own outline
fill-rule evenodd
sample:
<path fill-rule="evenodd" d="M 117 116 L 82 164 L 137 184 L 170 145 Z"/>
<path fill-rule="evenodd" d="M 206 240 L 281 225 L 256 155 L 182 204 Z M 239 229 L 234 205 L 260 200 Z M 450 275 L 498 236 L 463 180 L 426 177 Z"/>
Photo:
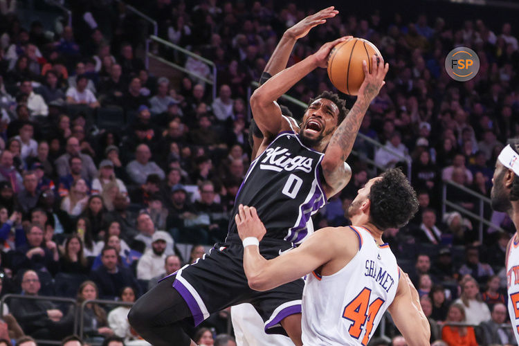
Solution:
<path fill-rule="evenodd" d="M 157 230 L 152 235 L 152 246 L 146 248 L 143 257 L 140 257 L 137 264 L 137 278 L 139 280 L 151 280 L 154 276 L 163 272 L 163 264 L 167 256 L 165 250 L 171 236 L 163 230 Z M 171 249 L 172 250 L 172 249 Z"/>

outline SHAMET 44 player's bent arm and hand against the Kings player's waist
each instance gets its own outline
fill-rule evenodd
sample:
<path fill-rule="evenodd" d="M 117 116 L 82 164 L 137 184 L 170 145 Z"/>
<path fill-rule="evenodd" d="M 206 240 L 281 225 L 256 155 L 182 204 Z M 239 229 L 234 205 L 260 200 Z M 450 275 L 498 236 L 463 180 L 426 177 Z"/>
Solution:
<path fill-rule="evenodd" d="M 266 233 L 255 208 L 239 206 L 235 216 L 239 237 L 261 240 Z M 268 291 L 287 282 L 297 280 L 322 266 L 335 273 L 351 260 L 358 251 L 358 238 L 353 232 L 341 228 L 322 228 L 298 248 L 266 260 L 258 246 L 244 248 L 244 271 L 251 289 Z"/>

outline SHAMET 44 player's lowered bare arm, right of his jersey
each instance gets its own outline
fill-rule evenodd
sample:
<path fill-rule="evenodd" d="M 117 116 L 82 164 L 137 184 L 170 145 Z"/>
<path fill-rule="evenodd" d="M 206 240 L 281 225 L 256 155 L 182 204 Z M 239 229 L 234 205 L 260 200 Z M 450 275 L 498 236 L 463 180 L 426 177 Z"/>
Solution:
<path fill-rule="evenodd" d="M 400 271 L 400 276 L 397 295 L 388 311 L 409 346 L 428 346 L 430 325 L 421 309 L 418 292 L 406 273 Z"/>

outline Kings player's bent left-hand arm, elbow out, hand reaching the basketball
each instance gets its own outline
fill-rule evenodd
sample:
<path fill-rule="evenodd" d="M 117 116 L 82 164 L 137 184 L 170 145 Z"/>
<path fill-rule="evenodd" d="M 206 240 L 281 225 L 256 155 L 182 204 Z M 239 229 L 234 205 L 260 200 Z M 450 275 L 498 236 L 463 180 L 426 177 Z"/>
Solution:
<path fill-rule="evenodd" d="M 277 73 L 254 91 L 251 96 L 251 109 L 254 120 L 264 136 L 275 136 L 280 131 L 289 129 L 289 123 L 282 121 L 281 110 L 275 100 L 317 67 L 325 68 L 331 48 L 346 39 L 347 37 L 341 37 L 322 45 L 316 53 Z"/>

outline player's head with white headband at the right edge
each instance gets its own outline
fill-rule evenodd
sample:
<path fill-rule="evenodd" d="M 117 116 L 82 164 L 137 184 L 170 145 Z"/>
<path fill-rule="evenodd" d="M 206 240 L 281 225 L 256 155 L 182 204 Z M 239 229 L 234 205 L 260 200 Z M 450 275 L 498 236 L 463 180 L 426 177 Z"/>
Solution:
<path fill-rule="evenodd" d="M 509 140 L 495 161 L 490 193 L 492 208 L 507 212 L 516 227 L 519 225 L 519 139 Z"/>

